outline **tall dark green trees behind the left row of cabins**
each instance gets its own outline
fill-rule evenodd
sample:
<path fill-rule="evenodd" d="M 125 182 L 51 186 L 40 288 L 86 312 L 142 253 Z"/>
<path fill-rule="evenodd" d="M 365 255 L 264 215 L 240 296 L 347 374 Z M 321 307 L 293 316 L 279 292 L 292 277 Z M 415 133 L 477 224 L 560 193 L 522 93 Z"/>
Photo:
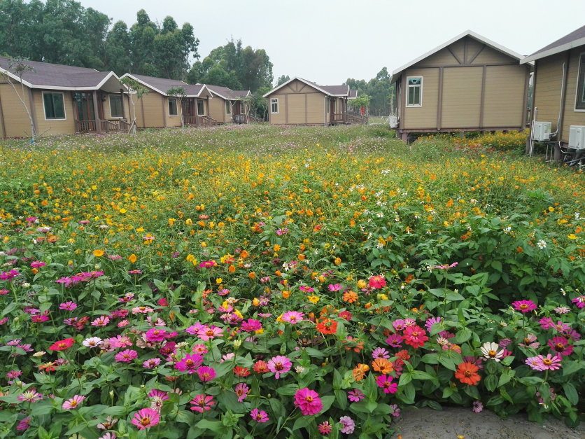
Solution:
<path fill-rule="evenodd" d="M 210 83 L 234 90 L 272 86 L 263 49 L 227 42 L 200 60 L 199 39 L 188 22 L 154 22 L 141 9 L 131 27 L 74 0 L 0 0 L 0 55 L 100 71 Z M 192 60 L 195 60 L 191 64 Z"/>

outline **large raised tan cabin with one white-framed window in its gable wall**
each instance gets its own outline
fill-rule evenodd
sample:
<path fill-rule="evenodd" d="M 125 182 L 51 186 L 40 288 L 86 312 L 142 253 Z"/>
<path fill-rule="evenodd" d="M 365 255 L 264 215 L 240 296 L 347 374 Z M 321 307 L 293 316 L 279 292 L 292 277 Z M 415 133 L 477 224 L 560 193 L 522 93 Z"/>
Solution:
<path fill-rule="evenodd" d="M 524 130 L 530 64 L 472 31 L 393 71 L 397 135 Z"/>

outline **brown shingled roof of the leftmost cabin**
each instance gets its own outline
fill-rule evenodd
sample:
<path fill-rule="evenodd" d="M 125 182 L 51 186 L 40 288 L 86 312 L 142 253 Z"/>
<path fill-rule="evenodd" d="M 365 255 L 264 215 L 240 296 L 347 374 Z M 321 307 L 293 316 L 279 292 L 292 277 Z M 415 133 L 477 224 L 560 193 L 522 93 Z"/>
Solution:
<path fill-rule="evenodd" d="M 27 61 L 26 64 L 33 67 L 34 71 L 25 71 L 22 74 L 22 82 L 31 88 L 95 89 L 109 76 L 115 76 L 112 71 L 97 71 L 48 62 Z M 8 71 L 13 78 L 18 78 L 14 69 L 10 67 L 10 58 L 0 57 L 0 69 Z"/>

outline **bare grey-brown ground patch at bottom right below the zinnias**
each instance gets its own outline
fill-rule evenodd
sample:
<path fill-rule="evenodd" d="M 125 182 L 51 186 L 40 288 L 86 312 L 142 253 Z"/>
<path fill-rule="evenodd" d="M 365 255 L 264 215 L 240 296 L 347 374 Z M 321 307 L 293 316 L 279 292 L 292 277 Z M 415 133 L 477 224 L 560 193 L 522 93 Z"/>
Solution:
<path fill-rule="evenodd" d="M 526 414 L 502 420 L 493 412 L 474 413 L 471 409 L 446 407 L 432 410 L 402 410 L 392 439 L 585 439 L 585 425 L 568 428 L 563 421 L 550 419 L 540 426 L 528 421 Z M 388 438 L 389 439 L 389 438 Z"/>

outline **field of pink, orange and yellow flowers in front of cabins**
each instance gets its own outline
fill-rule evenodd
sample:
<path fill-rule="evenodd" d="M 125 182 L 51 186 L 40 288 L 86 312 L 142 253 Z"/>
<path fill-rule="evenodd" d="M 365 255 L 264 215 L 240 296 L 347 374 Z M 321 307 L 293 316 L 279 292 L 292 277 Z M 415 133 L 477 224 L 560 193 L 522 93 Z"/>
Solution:
<path fill-rule="evenodd" d="M 385 438 L 414 405 L 579 424 L 584 175 L 392 134 L 1 142 L 0 438 Z"/>

